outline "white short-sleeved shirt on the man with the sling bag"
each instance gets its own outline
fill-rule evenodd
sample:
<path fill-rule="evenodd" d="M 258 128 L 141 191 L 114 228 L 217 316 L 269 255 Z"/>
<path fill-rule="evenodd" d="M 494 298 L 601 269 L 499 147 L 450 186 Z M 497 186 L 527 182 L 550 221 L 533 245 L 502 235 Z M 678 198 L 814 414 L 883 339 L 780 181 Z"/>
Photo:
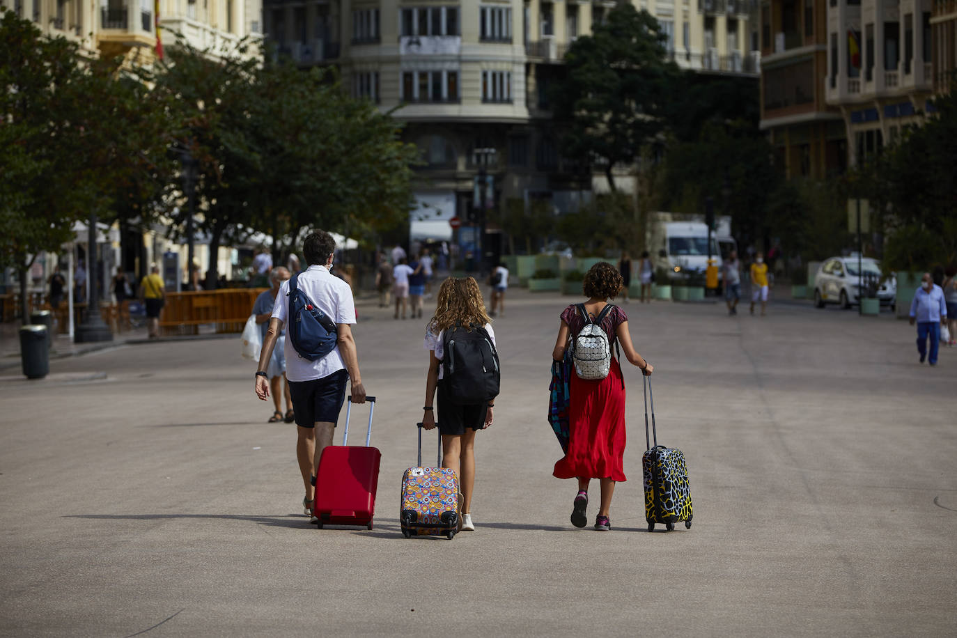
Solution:
<path fill-rule="evenodd" d="M 273 317 L 285 325 L 289 317 L 289 279 L 282 282 L 273 306 Z M 302 271 L 297 286 L 312 301 L 313 305 L 331 317 L 336 323 L 355 323 L 356 307 L 352 289 L 342 279 L 329 273 L 325 266 L 312 265 Z M 322 379 L 338 370 L 345 370 L 339 345 L 318 361 L 303 359 L 287 339 L 283 352 L 286 355 L 286 379 L 289 381 L 313 381 Z"/>

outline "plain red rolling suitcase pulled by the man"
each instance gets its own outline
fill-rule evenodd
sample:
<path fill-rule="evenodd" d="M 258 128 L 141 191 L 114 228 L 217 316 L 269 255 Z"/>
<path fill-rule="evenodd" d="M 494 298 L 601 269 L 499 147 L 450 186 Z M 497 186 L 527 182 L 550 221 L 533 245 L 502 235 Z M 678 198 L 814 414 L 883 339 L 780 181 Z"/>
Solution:
<path fill-rule="evenodd" d="M 382 460 L 382 453 L 368 445 L 372 437 L 375 397 L 366 397 L 370 406 L 365 446 L 345 445 L 349 436 L 351 399 L 348 397 L 345 408 L 343 445 L 328 446 L 319 458 L 312 514 L 320 529 L 323 525 L 365 525 L 367 529 L 372 529 L 375 491 L 379 485 L 379 462 Z"/>

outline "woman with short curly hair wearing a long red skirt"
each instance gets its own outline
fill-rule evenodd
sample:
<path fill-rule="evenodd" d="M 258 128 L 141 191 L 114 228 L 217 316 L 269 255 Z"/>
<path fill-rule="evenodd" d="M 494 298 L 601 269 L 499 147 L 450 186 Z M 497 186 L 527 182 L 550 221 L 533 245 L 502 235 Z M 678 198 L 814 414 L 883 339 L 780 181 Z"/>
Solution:
<path fill-rule="evenodd" d="M 591 267 L 585 275 L 584 293 L 589 300 L 585 310 L 590 320 L 601 315 L 622 287 L 622 278 L 612 264 L 602 261 Z M 558 340 L 552 351 L 552 359 L 564 361 L 569 341 L 575 339 L 587 321 L 577 304 L 572 304 L 562 313 Z M 634 350 L 628 332 L 628 316 L 617 306 L 602 318 L 601 327 L 608 335 L 612 346 L 612 366 L 607 377 L 589 381 L 571 374 L 570 405 L 568 416 L 568 451 L 555 463 L 553 474 L 558 478 L 578 478 L 578 495 L 571 511 L 571 524 L 585 527 L 588 523 L 586 510 L 589 503 L 589 482 L 601 480 L 601 505 L 595 518 L 595 529 L 607 531 L 612 528 L 609 508 L 616 481 L 623 481 L 622 457 L 625 454 L 625 384 L 621 366 L 614 357 L 614 341 L 629 363 L 641 368 L 645 375 L 655 369 L 651 363 Z"/>

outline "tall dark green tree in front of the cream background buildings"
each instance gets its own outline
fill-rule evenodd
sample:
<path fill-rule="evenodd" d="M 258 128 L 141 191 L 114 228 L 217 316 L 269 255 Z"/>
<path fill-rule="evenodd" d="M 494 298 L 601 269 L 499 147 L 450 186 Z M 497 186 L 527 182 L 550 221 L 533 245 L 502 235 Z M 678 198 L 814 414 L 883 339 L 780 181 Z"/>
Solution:
<path fill-rule="evenodd" d="M 571 45 L 552 92 L 565 155 L 604 165 L 612 190 L 614 167 L 633 162 L 666 128 L 679 77 L 666 40 L 654 16 L 619 4 Z"/>

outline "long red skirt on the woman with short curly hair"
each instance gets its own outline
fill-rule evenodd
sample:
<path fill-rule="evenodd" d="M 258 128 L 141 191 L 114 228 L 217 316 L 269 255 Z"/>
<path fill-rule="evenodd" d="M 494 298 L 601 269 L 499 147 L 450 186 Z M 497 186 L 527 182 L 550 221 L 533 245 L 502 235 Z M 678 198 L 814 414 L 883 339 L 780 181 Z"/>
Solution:
<path fill-rule="evenodd" d="M 568 453 L 552 474 L 626 480 L 625 388 L 618 361 L 612 357 L 612 369 L 600 381 L 579 379 L 572 371 L 569 389 Z"/>

